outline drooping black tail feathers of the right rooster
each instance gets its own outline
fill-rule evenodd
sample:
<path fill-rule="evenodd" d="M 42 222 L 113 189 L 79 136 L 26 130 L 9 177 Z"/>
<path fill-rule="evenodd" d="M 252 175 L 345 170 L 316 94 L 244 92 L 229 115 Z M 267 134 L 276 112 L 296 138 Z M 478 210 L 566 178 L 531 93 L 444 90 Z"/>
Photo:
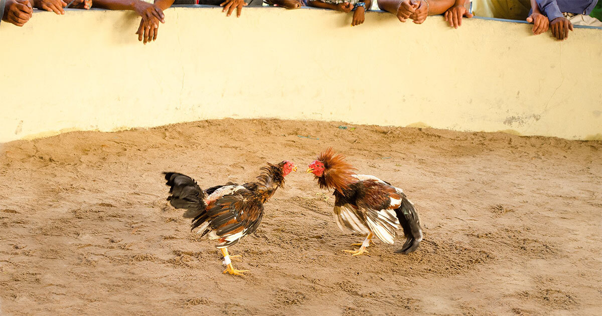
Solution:
<path fill-rule="evenodd" d="M 406 242 L 395 253 L 407 255 L 418 249 L 422 241 L 422 229 L 420 228 L 420 217 L 414 208 L 414 204 L 408 200 L 402 193 L 402 206 L 395 210 L 399 223 L 402 225 L 403 234 L 406 236 Z"/>

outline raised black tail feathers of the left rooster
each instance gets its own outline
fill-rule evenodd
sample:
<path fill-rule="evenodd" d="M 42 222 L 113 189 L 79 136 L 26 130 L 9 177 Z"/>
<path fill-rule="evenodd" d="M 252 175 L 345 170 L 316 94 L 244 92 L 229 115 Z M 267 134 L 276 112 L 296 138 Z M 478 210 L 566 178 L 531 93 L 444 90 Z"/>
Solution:
<path fill-rule="evenodd" d="M 175 208 L 186 209 L 184 217 L 194 218 L 205 211 L 205 193 L 189 176 L 176 172 L 164 172 L 170 196 L 167 200 Z"/>

